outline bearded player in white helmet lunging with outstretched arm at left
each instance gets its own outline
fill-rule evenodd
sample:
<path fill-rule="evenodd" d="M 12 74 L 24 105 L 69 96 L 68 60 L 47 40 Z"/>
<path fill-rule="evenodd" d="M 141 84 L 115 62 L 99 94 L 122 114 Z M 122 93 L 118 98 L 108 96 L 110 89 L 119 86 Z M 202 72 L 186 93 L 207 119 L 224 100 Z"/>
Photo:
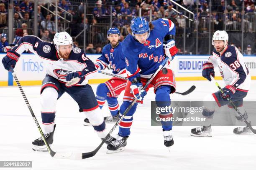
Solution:
<path fill-rule="evenodd" d="M 105 122 L 92 87 L 87 84 L 88 79 L 97 72 L 94 63 L 86 57 L 84 50 L 73 46 L 72 37 L 67 32 L 56 33 L 53 41 L 54 43 L 44 42 L 36 36 L 24 36 L 13 50 L 7 52 L 2 63 L 6 70 L 9 70 L 10 66 L 14 68 L 25 50 L 47 60 L 47 74 L 42 82 L 40 101 L 44 137 L 50 145 L 53 143 L 56 126 L 56 103 L 64 92 L 77 102 L 79 112 L 84 112 L 88 117 L 97 135 L 105 138 L 108 133 L 105 130 Z M 33 150 L 47 151 L 41 137 L 34 140 L 32 146 Z"/>

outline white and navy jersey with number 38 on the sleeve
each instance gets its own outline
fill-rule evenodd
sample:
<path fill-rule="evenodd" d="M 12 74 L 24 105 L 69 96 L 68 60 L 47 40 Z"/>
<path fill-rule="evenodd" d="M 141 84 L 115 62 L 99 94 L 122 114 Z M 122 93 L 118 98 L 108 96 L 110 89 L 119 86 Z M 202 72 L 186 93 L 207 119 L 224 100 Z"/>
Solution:
<path fill-rule="evenodd" d="M 220 75 L 226 85 L 233 85 L 237 90 L 250 89 L 251 75 L 237 47 L 227 45 L 222 54 L 214 50 L 208 62 L 211 62 L 214 67 L 219 67 Z"/>

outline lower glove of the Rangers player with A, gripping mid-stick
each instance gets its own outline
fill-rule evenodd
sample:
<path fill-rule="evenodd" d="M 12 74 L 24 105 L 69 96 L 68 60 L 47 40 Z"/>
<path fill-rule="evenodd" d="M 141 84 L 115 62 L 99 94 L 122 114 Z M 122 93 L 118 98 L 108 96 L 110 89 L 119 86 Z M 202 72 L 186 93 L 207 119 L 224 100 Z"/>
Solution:
<path fill-rule="evenodd" d="M 143 89 L 141 78 L 136 77 L 132 80 L 132 84 L 130 86 L 131 92 L 133 93 L 134 97 L 136 97 L 138 100 L 143 100 L 147 92 Z"/>

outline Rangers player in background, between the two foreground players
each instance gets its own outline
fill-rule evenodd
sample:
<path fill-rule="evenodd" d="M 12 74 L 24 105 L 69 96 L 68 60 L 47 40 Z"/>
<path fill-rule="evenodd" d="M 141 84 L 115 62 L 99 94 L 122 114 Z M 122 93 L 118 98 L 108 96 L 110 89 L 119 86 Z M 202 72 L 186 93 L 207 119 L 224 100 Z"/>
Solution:
<path fill-rule="evenodd" d="M 107 35 L 110 43 L 103 47 L 102 55 L 97 59 L 95 66 L 100 71 L 110 65 L 114 75 L 126 77 L 125 57 L 122 51 L 123 42 L 119 42 L 120 31 L 118 28 L 110 28 Z M 110 80 L 98 85 L 96 92 L 98 105 L 102 109 L 107 100 L 111 113 L 111 116 L 104 117 L 105 122 L 116 122 L 119 119 L 117 99 L 120 93 L 125 90 L 126 82 L 127 80 L 112 77 Z M 90 125 L 90 121 L 87 118 L 84 119 L 84 125 Z"/>

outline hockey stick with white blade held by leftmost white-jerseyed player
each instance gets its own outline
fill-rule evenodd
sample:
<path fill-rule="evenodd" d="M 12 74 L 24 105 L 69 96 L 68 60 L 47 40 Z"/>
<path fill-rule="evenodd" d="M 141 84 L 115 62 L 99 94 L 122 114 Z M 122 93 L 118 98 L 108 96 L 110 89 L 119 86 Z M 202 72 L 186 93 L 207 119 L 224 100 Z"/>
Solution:
<path fill-rule="evenodd" d="M 72 153 L 59 154 L 59 153 L 56 153 L 56 152 L 54 152 L 53 150 L 51 150 L 51 148 L 50 148 L 48 142 L 47 142 L 46 139 L 44 138 L 44 133 L 43 133 L 43 131 L 42 131 L 42 129 L 41 129 L 41 127 L 40 127 L 40 125 L 39 125 L 37 119 L 36 119 L 36 116 L 35 116 L 35 114 L 34 114 L 32 108 L 31 108 L 31 106 L 30 106 L 30 104 L 29 104 L 29 102 L 28 102 L 28 99 L 27 99 L 27 97 L 26 97 L 26 95 L 25 95 L 25 93 L 24 93 L 24 91 L 23 91 L 23 89 L 22 89 L 22 87 L 21 87 L 21 85 L 20 85 L 20 82 L 19 82 L 17 76 L 15 75 L 15 72 L 14 72 L 14 70 L 13 70 L 13 67 L 10 67 L 10 71 L 12 72 L 12 75 L 13 75 L 13 77 L 14 77 L 14 79 L 15 79 L 15 82 L 17 83 L 17 85 L 18 85 L 18 87 L 19 87 L 19 89 L 20 89 L 21 95 L 23 96 L 23 99 L 25 100 L 25 102 L 26 102 L 26 104 L 27 104 L 27 106 L 28 106 L 28 109 L 29 109 L 29 111 L 30 111 L 30 113 L 31 113 L 31 115 L 32 115 L 32 117 L 33 117 L 33 120 L 34 120 L 35 123 L 36 123 L 36 126 L 37 126 L 37 128 L 38 128 L 39 133 L 41 134 L 42 139 L 44 140 L 44 143 L 45 143 L 45 145 L 46 145 L 46 148 L 49 150 L 49 153 L 50 153 L 51 157 L 53 157 L 53 158 L 68 158 L 68 157 L 70 157 L 70 156 L 72 155 Z"/>

